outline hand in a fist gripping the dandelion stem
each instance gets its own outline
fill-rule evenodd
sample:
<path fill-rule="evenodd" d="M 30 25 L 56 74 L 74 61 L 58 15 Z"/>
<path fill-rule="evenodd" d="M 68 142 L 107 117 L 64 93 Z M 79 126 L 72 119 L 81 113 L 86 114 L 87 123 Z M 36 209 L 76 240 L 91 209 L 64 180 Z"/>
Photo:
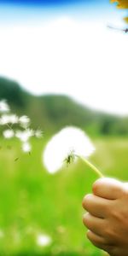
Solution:
<path fill-rule="evenodd" d="M 83 207 L 88 239 L 111 256 L 128 256 L 128 183 L 98 179 Z"/>

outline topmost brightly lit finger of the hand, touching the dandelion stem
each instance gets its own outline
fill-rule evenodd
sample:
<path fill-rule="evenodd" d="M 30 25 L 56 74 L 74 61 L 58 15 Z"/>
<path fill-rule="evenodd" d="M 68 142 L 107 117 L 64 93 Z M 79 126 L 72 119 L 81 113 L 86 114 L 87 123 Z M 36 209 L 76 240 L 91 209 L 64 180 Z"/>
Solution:
<path fill-rule="evenodd" d="M 123 183 L 114 178 L 102 177 L 93 184 L 92 190 L 94 195 L 115 200 L 122 195 Z"/>

